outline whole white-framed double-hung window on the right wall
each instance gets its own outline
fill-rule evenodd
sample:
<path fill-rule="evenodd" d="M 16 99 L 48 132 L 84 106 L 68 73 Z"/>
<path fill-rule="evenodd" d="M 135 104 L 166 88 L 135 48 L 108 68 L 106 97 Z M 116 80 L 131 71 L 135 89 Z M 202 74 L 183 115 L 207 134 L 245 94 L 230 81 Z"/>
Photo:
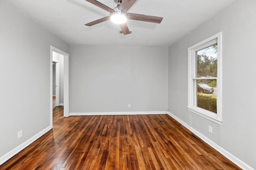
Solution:
<path fill-rule="evenodd" d="M 188 48 L 188 110 L 221 125 L 221 32 Z"/>

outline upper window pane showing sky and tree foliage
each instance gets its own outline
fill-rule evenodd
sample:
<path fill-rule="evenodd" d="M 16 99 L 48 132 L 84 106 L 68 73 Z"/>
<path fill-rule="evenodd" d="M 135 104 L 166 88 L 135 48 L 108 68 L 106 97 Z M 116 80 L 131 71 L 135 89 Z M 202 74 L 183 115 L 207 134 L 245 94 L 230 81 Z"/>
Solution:
<path fill-rule="evenodd" d="M 197 77 L 217 77 L 217 43 L 197 51 Z"/>

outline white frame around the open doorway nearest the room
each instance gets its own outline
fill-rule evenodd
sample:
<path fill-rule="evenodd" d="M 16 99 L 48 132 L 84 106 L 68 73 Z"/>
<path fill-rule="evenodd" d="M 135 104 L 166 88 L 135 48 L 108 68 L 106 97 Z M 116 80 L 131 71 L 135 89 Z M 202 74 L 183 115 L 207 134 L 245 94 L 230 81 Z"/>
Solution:
<path fill-rule="evenodd" d="M 69 54 L 50 46 L 50 126 L 52 128 L 52 51 L 64 55 L 64 117 L 69 117 Z"/>

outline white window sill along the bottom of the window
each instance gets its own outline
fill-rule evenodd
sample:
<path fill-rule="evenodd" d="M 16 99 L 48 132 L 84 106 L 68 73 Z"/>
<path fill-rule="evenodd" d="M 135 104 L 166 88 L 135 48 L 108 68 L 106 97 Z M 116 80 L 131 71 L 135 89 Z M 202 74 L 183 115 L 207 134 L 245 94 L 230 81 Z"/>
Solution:
<path fill-rule="evenodd" d="M 214 123 L 222 125 L 222 120 L 217 118 L 217 114 L 216 116 L 211 115 L 210 113 L 212 112 L 206 111 L 204 109 L 200 109 L 198 107 L 188 107 L 188 111 L 191 111 L 192 113 L 195 113 L 196 115 L 204 117 L 205 119 L 208 119 Z"/>

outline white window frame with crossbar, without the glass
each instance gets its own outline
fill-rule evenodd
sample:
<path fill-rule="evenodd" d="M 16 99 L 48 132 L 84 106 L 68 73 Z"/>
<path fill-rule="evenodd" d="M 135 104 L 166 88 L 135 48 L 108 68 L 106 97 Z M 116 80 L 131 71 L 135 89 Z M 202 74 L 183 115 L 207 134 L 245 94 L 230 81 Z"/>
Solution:
<path fill-rule="evenodd" d="M 217 78 L 197 77 L 196 51 L 200 51 L 201 49 L 214 45 L 215 43 L 218 43 Z M 197 107 L 195 105 L 197 97 L 197 79 L 217 79 L 217 114 Z M 203 40 L 202 42 L 199 42 L 188 48 L 188 111 L 191 111 L 192 113 L 195 113 L 212 122 L 222 125 L 222 32 L 215 34 L 214 36 L 211 36 L 206 40 Z"/>

